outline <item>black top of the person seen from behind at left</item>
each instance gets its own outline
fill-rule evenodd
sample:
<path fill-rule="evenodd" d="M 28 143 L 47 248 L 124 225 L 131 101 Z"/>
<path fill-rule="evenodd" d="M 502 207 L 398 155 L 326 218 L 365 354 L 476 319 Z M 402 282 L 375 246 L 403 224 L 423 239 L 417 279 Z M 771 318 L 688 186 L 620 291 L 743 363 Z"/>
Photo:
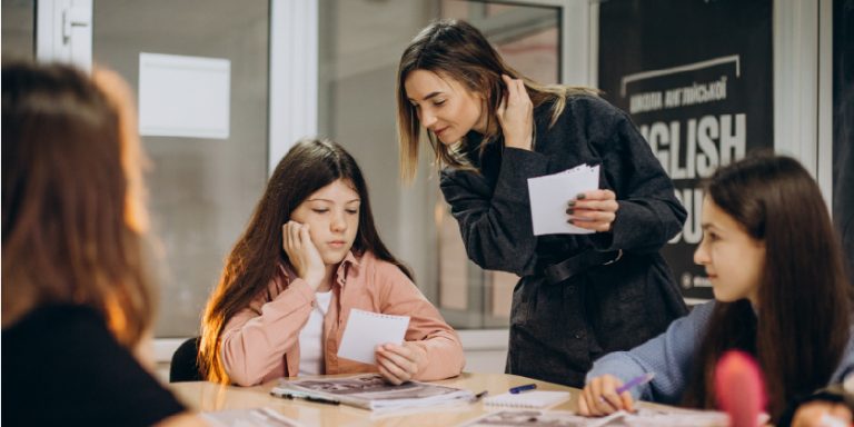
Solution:
<path fill-rule="evenodd" d="M 183 406 L 82 306 L 33 310 L 2 331 L 3 426 L 150 426 Z"/>

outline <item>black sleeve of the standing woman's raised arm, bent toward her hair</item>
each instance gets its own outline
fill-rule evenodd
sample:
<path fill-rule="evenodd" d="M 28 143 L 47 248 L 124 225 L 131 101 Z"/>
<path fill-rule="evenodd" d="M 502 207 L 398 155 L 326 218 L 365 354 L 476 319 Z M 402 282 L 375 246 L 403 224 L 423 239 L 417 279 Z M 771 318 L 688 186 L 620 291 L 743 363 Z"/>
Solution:
<path fill-rule="evenodd" d="M 547 171 L 546 156 L 517 148 L 504 149 L 494 190 L 473 171 L 443 170 L 439 186 L 469 259 L 485 269 L 534 272 L 537 239 L 530 231 L 527 180 Z"/>

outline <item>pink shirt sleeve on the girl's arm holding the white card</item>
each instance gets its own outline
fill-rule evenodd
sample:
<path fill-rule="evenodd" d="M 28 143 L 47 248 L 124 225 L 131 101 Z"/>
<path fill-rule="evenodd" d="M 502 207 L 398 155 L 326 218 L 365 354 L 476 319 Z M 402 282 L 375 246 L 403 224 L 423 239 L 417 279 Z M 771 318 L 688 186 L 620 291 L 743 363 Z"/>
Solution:
<path fill-rule="evenodd" d="M 380 284 L 380 311 L 409 316 L 404 339 L 427 351 L 427 366 L 415 375 L 415 379 L 431 381 L 459 375 L 466 364 L 463 345 L 439 310 L 397 266 L 379 262 L 375 274 Z"/>

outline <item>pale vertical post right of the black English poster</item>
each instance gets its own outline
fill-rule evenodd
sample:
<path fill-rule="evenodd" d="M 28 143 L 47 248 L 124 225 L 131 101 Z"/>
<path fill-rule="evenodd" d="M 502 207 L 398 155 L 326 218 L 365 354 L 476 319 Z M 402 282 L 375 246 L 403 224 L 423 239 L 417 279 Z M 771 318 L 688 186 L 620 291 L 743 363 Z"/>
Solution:
<path fill-rule="evenodd" d="M 815 176 L 818 138 L 818 6 L 774 2 L 774 149 Z"/>

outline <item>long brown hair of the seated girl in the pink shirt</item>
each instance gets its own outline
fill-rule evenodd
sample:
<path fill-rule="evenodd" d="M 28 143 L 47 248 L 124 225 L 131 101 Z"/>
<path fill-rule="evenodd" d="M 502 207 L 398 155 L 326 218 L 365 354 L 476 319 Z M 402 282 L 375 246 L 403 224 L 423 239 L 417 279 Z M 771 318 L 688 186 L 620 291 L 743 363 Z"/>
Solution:
<path fill-rule="evenodd" d="M 219 285 L 208 300 L 199 349 L 199 366 L 208 380 L 229 380 L 220 360 L 220 336 L 225 325 L 267 288 L 279 264 L 289 264 L 281 247 L 281 226 L 304 200 L 339 179 L 348 181 L 361 199 L 354 254 L 360 256 L 370 251 L 413 278 L 409 269 L 389 252 L 379 238 L 370 210 L 368 186 L 352 156 L 329 140 L 300 140 L 272 172 L 246 231 L 226 260 Z"/>

